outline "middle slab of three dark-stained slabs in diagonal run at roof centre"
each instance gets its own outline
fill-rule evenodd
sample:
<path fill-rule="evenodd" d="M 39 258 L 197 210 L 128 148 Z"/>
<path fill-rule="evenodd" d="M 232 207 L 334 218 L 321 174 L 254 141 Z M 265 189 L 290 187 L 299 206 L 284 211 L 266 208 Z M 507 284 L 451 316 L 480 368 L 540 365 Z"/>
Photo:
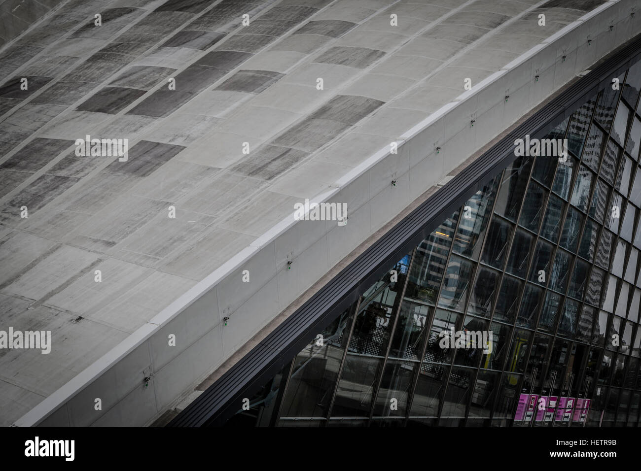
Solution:
<path fill-rule="evenodd" d="M 340 135 L 348 124 L 329 119 L 305 118 L 274 139 L 274 145 L 313 152 Z"/>

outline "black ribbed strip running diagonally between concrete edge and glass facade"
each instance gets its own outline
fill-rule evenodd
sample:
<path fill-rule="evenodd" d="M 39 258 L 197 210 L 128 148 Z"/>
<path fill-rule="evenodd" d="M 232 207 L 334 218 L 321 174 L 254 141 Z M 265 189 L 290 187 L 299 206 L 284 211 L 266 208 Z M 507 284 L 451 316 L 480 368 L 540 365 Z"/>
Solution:
<path fill-rule="evenodd" d="M 403 254 L 428 238 L 456 208 L 510 165 L 516 158 L 513 152 L 516 138 L 526 134 L 538 138 L 546 135 L 571 115 L 574 108 L 610 86 L 612 76 L 619 75 L 637 62 L 637 56 L 641 56 L 641 35 L 621 45 L 606 60 L 601 60 L 596 69 L 554 97 L 392 227 L 167 426 L 222 426 L 238 411 L 243 397 L 252 397 L 258 392 L 316 333 L 353 304 L 363 289 L 383 276 Z"/>

